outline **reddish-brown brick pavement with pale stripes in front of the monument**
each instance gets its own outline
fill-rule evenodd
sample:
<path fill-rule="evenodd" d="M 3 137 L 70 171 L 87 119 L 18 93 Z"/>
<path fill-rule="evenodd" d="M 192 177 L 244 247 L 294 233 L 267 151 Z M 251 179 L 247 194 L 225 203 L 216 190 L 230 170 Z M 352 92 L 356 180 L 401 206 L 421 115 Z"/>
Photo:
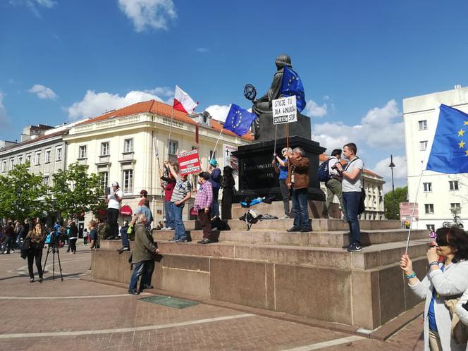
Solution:
<path fill-rule="evenodd" d="M 30 283 L 27 262 L 18 252 L 0 254 L 0 350 L 423 348 L 421 317 L 381 342 L 212 304 L 175 309 L 140 301 L 145 295 L 82 280 L 89 276 L 91 261 L 90 249 L 83 245 L 76 254 L 60 250 L 64 280 L 58 275 L 57 259 L 54 280 L 51 258 L 44 281 Z"/>

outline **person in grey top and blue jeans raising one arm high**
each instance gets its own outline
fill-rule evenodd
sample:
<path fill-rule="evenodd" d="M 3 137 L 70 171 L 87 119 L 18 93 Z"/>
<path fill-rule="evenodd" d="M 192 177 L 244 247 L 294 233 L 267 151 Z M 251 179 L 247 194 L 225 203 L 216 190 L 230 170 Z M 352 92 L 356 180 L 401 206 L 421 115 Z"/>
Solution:
<path fill-rule="evenodd" d="M 192 195 L 192 185 L 187 180 L 186 174 L 176 172 L 176 169 L 169 164 L 166 160 L 166 165 L 174 178 L 176 178 L 176 186 L 172 192 L 171 208 L 174 214 L 174 238 L 169 242 L 187 242 L 187 233 L 185 233 L 185 226 L 182 219 L 182 212 L 185 202 L 190 199 Z"/>

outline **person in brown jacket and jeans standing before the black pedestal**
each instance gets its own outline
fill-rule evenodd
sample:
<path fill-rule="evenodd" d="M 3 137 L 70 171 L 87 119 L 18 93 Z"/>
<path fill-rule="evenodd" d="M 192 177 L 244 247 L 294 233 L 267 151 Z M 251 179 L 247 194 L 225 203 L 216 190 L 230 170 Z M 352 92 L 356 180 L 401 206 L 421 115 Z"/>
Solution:
<path fill-rule="evenodd" d="M 291 164 L 291 177 L 288 186 L 293 189 L 293 227 L 288 232 L 309 232 L 312 228 L 309 224 L 309 204 L 307 201 L 307 189 L 309 187 L 309 159 L 304 157 L 304 150 L 300 147 L 293 152 L 285 152 L 285 157 Z"/>

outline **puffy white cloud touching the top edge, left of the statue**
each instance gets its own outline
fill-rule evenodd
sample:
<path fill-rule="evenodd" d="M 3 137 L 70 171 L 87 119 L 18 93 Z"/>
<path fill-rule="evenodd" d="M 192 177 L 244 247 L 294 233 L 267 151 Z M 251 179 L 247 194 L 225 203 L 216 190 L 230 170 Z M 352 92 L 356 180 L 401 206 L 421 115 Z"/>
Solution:
<path fill-rule="evenodd" d="M 118 6 L 133 21 L 137 32 L 167 29 L 168 21 L 177 18 L 172 0 L 118 0 Z"/>

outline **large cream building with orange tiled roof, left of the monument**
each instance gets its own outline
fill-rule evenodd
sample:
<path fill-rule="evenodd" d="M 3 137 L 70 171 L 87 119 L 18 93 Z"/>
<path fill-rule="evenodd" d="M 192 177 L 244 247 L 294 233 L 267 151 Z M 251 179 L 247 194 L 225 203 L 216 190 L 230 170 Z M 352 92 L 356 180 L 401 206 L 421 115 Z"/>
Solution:
<path fill-rule="evenodd" d="M 123 190 L 123 204 L 136 209 L 140 191 L 147 190 L 154 218 L 159 220 L 163 216 L 160 177 L 164 159 L 176 159 L 180 152 L 198 149 L 203 169 L 208 168 L 212 154 L 223 168 L 226 147 L 244 145 L 253 139 L 223 130 L 222 124 L 207 113 L 190 118 L 170 105 L 150 100 L 75 125 L 63 140 L 67 144 L 68 164 L 78 161 L 87 165 L 90 173 L 101 175 L 103 187 L 117 181 Z M 195 177 L 190 179 L 195 184 Z M 190 207 L 189 203 L 185 216 Z"/>

